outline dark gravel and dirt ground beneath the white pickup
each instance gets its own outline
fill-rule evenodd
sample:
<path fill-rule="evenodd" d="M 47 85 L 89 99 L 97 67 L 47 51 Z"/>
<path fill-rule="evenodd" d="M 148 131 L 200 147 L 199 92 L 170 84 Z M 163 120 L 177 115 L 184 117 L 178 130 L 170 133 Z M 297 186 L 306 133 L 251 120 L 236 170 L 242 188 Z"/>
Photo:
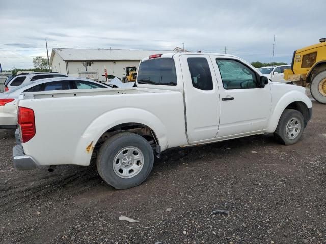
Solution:
<path fill-rule="evenodd" d="M 0 243 L 326 243 L 326 105 L 313 102 L 296 145 L 253 136 L 173 149 L 128 190 L 94 164 L 17 171 L 14 145 L 0 130 Z"/>

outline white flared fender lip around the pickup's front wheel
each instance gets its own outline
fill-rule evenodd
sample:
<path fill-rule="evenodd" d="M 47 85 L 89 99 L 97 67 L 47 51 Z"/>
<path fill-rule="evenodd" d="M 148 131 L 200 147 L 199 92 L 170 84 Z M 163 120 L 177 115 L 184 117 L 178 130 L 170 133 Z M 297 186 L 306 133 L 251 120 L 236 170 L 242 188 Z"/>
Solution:
<path fill-rule="evenodd" d="M 299 92 L 297 90 L 292 90 L 291 92 L 284 94 L 277 102 L 274 110 L 271 111 L 267 131 L 266 131 L 267 133 L 273 133 L 276 130 L 276 127 L 279 124 L 279 120 L 281 118 L 283 111 L 289 104 L 293 102 L 303 102 L 304 104 L 306 104 L 308 108 L 312 107 L 311 100 L 302 92 Z"/>

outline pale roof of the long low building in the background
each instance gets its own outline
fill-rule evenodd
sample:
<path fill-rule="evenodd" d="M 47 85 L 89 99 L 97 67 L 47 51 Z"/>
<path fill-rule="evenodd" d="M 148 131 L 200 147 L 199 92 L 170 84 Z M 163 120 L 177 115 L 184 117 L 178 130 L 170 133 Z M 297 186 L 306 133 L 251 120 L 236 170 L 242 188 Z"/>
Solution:
<path fill-rule="evenodd" d="M 50 59 L 57 53 L 64 61 L 113 61 L 113 60 L 141 60 L 152 54 L 171 53 L 175 51 L 162 50 L 126 50 L 126 49 L 74 49 L 53 48 Z"/>

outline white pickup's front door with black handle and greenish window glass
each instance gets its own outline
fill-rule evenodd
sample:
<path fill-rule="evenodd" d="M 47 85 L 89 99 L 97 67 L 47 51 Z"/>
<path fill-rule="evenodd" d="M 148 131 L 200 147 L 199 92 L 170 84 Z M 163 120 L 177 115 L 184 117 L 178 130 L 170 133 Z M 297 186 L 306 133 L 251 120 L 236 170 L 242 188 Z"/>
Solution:
<path fill-rule="evenodd" d="M 271 109 L 270 85 L 258 88 L 259 75 L 241 60 L 211 56 L 220 90 L 217 137 L 244 136 L 267 128 Z"/>

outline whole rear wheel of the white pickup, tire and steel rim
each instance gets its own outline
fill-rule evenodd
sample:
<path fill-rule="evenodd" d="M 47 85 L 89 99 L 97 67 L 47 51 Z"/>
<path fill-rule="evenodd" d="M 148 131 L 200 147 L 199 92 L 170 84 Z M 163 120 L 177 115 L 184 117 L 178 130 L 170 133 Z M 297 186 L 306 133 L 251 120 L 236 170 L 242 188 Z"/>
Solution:
<path fill-rule="evenodd" d="M 124 132 L 101 146 L 97 171 L 107 184 L 127 189 L 138 186 L 148 177 L 153 162 L 153 150 L 145 138 Z"/>

